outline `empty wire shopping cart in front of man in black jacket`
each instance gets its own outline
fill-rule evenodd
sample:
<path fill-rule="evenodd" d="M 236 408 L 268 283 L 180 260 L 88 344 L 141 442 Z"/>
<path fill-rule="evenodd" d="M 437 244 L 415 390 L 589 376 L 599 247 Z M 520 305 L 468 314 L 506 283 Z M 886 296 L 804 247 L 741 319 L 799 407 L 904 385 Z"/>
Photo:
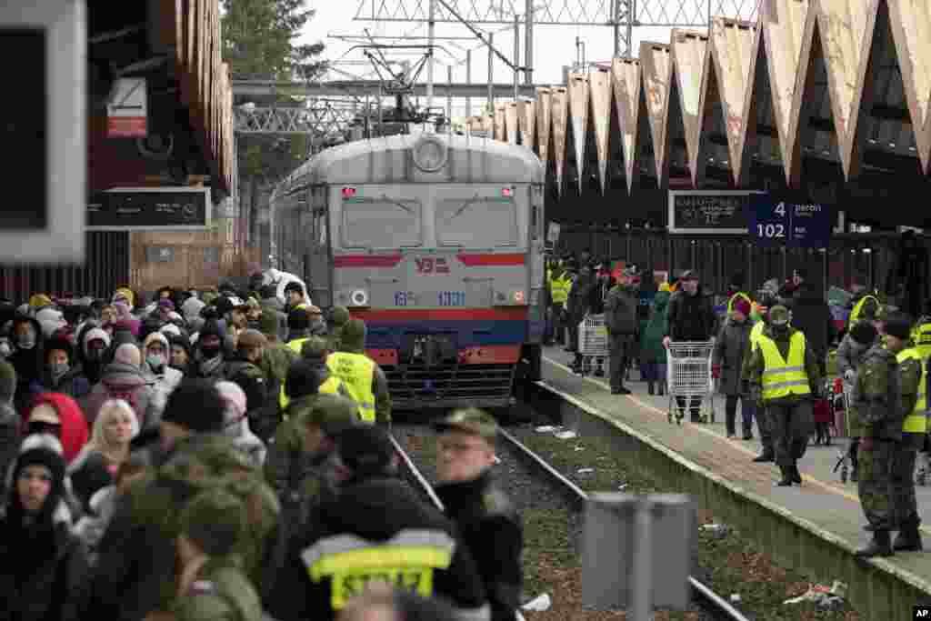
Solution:
<path fill-rule="evenodd" d="M 701 399 L 703 423 L 714 423 L 714 379 L 711 377 L 711 350 L 714 341 L 670 343 L 667 350 L 667 382 L 669 393 L 669 423 L 675 419 L 682 424 L 685 415 L 677 398 L 685 400 L 685 408 L 691 409 L 694 399 Z"/>

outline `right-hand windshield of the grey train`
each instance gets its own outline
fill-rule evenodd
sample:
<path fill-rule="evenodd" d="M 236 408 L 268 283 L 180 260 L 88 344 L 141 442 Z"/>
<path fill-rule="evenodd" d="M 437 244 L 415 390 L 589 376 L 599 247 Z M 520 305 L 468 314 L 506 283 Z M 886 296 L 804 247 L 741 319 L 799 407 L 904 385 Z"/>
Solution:
<path fill-rule="evenodd" d="M 492 248 L 514 246 L 517 239 L 517 208 L 511 198 L 473 196 L 437 203 L 440 246 Z"/>

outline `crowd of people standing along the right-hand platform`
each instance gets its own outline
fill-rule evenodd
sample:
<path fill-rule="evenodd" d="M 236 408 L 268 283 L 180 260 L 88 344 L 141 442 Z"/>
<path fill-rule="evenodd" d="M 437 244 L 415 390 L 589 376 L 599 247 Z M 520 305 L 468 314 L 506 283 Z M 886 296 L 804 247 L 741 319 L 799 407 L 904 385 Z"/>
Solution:
<path fill-rule="evenodd" d="M 808 281 L 803 269 L 778 290 L 757 295 L 745 290 L 742 274 L 730 281 L 720 314 L 695 270 L 669 284 L 655 284 L 652 275 L 641 280 L 633 266 L 612 275 L 606 262 L 592 262 L 587 253 L 579 260 L 565 257 L 547 270 L 547 340 L 558 342 L 565 332 L 566 351 L 576 352 L 573 367 L 579 371 L 578 325 L 603 314 L 615 395 L 630 394 L 624 383 L 635 359 L 648 393 L 663 395 L 670 344 L 710 343 L 708 364 L 725 397 L 727 437 L 737 438 L 739 403 L 740 437 L 752 440 L 756 424 L 762 452 L 753 461 L 776 464 L 776 486 L 803 483 L 799 461 L 812 437 L 816 444 L 830 444 L 833 425 L 835 433 L 849 438 L 846 457 L 853 463 L 852 479 L 873 533 L 857 554 L 921 550 L 915 470 L 919 454 L 928 460 L 931 452 L 931 302 L 922 317 L 911 317 L 884 304 L 879 293 L 858 288 L 849 319 L 837 330 L 823 288 Z M 643 304 L 641 293 L 651 286 L 656 288 L 652 302 Z M 834 382 L 830 358 L 836 360 Z M 835 385 L 846 397 L 847 429 L 836 428 Z M 680 420 L 688 412 L 692 423 L 706 422 L 701 405 L 701 397 L 676 397 Z M 894 542 L 891 531 L 898 531 Z"/>

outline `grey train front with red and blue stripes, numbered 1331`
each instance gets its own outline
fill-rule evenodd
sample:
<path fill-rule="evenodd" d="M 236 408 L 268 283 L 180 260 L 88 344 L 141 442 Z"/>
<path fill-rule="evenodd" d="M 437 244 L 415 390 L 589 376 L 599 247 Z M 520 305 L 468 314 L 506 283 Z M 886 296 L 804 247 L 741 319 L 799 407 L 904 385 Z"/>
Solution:
<path fill-rule="evenodd" d="M 335 182 L 312 193 L 329 206 L 315 221 L 329 217 L 332 235 L 317 241 L 331 249 L 331 299 L 365 320 L 367 353 L 398 409 L 506 408 L 516 377 L 539 379 L 542 179 L 506 179 L 514 161 L 496 158 L 487 182 Z"/>

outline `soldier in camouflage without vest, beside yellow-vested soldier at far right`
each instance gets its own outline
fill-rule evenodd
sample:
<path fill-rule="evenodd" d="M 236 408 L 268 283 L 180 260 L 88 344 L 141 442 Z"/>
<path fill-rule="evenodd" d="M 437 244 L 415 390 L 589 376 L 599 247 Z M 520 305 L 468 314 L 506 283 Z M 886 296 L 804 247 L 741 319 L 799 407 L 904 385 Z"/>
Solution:
<path fill-rule="evenodd" d="M 857 492 L 873 539 L 858 557 L 892 556 L 889 531 L 896 527 L 892 466 L 902 439 L 902 406 L 896 355 L 884 344 L 870 347 L 853 390 L 862 436 Z"/>

